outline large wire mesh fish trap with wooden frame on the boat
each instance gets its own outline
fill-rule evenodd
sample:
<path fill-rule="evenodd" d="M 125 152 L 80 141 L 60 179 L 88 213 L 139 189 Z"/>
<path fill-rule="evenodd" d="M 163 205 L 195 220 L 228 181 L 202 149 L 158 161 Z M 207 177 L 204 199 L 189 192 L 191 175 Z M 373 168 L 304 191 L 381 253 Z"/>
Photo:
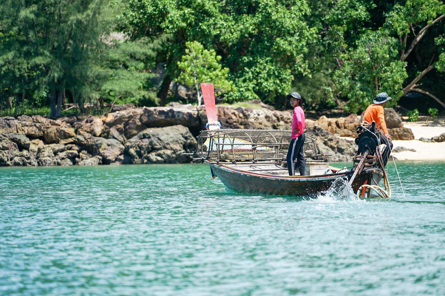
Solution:
<path fill-rule="evenodd" d="M 319 153 L 316 138 L 305 134 L 303 150 L 307 158 Z M 213 161 L 274 161 L 286 159 L 290 130 L 203 130 L 194 154 Z"/>

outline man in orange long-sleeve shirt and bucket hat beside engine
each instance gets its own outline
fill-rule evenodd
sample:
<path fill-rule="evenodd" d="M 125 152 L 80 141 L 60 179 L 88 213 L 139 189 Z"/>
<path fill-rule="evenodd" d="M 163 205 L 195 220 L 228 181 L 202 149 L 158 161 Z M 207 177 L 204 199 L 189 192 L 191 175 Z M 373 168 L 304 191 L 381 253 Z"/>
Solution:
<path fill-rule="evenodd" d="M 392 150 L 392 142 L 391 142 L 391 135 L 388 133 L 388 129 L 386 128 L 385 114 L 383 107 L 385 107 L 386 102 L 388 102 L 390 99 L 391 97 L 389 97 L 387 93 L 381 92 L 374 98 L 374 100 L 372 101 L 373 104 L 368 106 L 368 108 L 366 108 L 363 114 L 363 121 L 366 121 L 368 123 L 375 121 L 376 126 L 378 126 L 379 129 L 383 131 L 383 134 L 388 139 L 388 140 L 384 139 L 383 143 L 381 143 L 386 145 L 389 144 L 390 146 L 389 149 L 385 147 L 382 153 L 382 158 L 385 164 L 388 161 L 389 154 L 391 153 Z"/>

